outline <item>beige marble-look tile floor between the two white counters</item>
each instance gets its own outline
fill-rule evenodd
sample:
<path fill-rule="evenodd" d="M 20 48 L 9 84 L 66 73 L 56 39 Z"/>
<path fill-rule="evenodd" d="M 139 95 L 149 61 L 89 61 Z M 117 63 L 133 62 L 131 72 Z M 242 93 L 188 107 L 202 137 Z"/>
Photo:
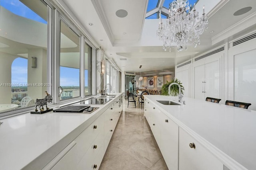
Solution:
<path fill-rule="evenodd" d="M 168 170 L 144 109 L 125 100 L 99 170 Z M 144 107 L 144 106 L 142 106 Z"/>

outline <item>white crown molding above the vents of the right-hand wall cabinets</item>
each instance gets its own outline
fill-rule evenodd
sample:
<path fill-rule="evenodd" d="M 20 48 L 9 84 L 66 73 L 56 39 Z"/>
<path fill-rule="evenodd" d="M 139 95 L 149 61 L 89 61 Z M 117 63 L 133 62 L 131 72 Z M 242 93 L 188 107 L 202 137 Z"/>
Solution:
<path fill-rule="evenodd" d="M 235 23 L 228 29 L 226 29 L 226 30 L 222 31 L 221 33 L 212 37 L 212 45 L 214 45 L 224 39 L 227 39 L 228 37 L 240 32 L 240 31 L 243 31 L 244 29 L 246 29 L 254 24 L 256 24 L 256 12 L 252 13 L 250 16 L 244 18 L 243 20 Z"/>

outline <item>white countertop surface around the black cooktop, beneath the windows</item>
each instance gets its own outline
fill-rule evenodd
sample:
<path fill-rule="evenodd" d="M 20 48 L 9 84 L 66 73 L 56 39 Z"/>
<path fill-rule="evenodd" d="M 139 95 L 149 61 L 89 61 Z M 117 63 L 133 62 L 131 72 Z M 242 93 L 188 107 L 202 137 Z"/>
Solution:
<path fill-rule="evenodd" d="M 120 95 L 121 93 L 116 94 L 116 98 Z M 54 153 L 49 154 L 58 154 L 60 149 L 66 147 L 111 106 L 116 98 L 112 98 L 104 105 L 91 105 L 100 107 L 91 114 L 26 113 L 2 119 L 3 124 L 0 125 L 0 169 L 24 168 L 53 147 L 55 147 Z M 57 143 L 58 146 L 56 146 Z"/>

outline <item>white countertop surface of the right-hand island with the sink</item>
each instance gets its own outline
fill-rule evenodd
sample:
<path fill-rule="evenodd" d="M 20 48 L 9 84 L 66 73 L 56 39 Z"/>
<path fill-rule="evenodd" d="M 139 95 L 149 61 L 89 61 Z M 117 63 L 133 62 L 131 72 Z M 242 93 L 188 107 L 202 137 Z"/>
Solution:
<path fill-rule="evenodd" d="M 182 98 L 186 104 L 180 106 L 156 101 L 171 100 L 169 96 L 146 95 L 145 98 L 207 145 L 222 162 L 238 162 L 249 170 L 256 169 L 256 111 L 192 98 Z"/>

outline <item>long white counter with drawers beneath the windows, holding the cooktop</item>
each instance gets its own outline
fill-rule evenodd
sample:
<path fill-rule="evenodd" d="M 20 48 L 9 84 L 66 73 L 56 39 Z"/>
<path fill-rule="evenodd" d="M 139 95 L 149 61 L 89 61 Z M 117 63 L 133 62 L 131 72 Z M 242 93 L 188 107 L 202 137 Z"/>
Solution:
<path fill-rule="evenodd" d="M 0 120 L 0 169 L 98 169 L 122 111 L 122 93 L 114 95 L 104 105 L 90 104 L 99 107 L 90 114 L 51 111 Z"/>

